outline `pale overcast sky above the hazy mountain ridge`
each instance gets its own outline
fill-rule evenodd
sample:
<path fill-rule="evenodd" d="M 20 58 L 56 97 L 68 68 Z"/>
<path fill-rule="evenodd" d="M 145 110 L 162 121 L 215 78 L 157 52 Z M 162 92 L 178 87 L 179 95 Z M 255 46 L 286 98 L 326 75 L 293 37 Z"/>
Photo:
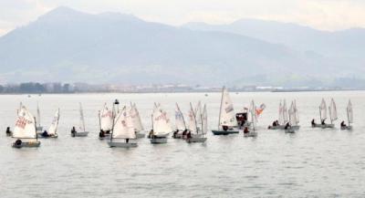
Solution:
<path fill-rule="evenodd" d="M 0 0 L 0 36 L 60 5 L 95 14 L 131 14 L 175 26 L 258 18 L 325 30 L 365 27 L 365 0 Z"/>

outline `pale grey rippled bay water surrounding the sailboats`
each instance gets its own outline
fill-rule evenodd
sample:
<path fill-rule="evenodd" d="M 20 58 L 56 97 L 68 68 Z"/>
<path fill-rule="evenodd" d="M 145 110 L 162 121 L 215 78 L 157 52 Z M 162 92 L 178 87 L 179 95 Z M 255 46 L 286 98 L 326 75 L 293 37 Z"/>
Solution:
<path fill-rule="evenodd" d="M 265 103 L 258 137 L 208 134 L 205 144 L 169 139 L 165 145 L 138 141 L 135 149 L 110 149 L 98 140 L 98 110 L 113 99 L 135 102 L 144 127 L 151 128 L 153 102 L 161 102 L 173 120 L 174 103 L 186 114 L 189 102 L 207 104 L 209 128 L 218 122 L 220 93 L 80 94 L 0 96 L 0 197 L 365 197 L 365 92 L 231 93 L 235 109 L 250 99 Z M 323 98 L 337 102 L 339 120 L 354 107 L 354 130 L 311 129 Z M 301 129 L 296 134 L 266 130 L 277 119 L 279 99 L 297 99 Z M 5 137 L 14 127 L 20 101 L 49 126 L 61 110 L 57 140 L 41 140 L 38 149 L 13 149 Z M 71 138 L 84 107 L 87 138 Z M 287 102 L 289 103 L 289 102 Z"/>

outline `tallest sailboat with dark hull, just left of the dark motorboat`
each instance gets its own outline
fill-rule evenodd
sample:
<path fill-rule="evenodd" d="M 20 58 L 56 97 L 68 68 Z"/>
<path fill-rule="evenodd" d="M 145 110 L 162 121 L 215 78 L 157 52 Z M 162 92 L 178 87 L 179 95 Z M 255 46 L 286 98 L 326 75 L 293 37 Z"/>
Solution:
<path fill-rule="evenodd" d="M 237 120 L 235 119 L 234 104 L 229 96 L 228 90 L 223 88 L 221 108 L 219 110 L 218 130 L 212 130 L 214 135 L 228 135 L 238 133 Z"/>

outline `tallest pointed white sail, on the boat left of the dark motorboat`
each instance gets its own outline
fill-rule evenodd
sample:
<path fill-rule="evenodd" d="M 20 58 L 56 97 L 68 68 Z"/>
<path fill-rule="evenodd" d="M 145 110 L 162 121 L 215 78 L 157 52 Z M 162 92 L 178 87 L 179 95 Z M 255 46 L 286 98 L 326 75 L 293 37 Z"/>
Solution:
<path fill-rule="evenodd" d="M 235 120 L 235 109 L 231 97 L 229 96 L 228 90 L 223 88 L 222 99 L 221 99 L 221 109 L 219 115 L 219 127 L 237 126 L 237 120 Z"/>

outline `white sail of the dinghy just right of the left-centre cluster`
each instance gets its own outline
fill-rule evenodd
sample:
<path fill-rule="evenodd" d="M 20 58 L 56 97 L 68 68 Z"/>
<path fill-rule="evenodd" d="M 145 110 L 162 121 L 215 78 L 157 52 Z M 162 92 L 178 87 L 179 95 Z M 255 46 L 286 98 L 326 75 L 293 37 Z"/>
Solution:
<path fill-rule="evenodd" d="M 162 110 L 161 105 L 155 107 L 152 114 L 153 134 L 157 136 L 167 135 L 172 132 L 170 119 L 166 111 Z"/>

